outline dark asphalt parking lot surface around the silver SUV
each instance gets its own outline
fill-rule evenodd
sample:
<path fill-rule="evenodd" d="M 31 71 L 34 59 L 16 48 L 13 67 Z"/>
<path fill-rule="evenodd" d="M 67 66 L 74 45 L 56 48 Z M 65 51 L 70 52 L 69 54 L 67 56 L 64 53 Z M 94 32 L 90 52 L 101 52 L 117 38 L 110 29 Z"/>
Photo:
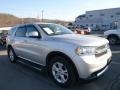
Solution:
<path fill-rule="evenodd" d="M 120 90 L 120 45 L 110 46 L 113 56 L 109 69 L 100 78 L 78 82 L 69 90 Z M 43 71 L 17 62 L 10 63 L 0 45 L 0 90 L 67 90 L 55 85 Z"/>

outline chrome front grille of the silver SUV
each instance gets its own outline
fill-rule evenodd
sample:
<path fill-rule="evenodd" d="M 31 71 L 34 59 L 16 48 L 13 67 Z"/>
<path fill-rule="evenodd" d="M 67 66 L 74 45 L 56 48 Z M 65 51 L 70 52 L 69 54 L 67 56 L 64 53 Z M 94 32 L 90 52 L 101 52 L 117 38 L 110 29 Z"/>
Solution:
<path fill-rule="evenodd" d="M 96 57 L 100 57 L 100 56 L 106 54 L 106 53 L 107 53 L 107 49 L 108 49 L 108 45 L 107 45 L 107 44 L 102 45 L 102 46 L 100 46 L 100 47 L 97 47 L 97 48 L 96 48 L 95 56 L 96 56 Z"/>

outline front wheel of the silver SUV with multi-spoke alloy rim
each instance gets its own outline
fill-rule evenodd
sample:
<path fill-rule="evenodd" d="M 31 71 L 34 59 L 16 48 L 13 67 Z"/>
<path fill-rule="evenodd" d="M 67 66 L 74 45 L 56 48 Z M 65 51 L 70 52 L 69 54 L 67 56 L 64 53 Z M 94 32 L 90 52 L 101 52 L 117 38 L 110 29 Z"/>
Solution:
<path fill-rule="evenodd" d="M 51 60 L 49 73 L 52 80 L 60 87 L 72 86 L 77 80 L 73 65 L 63 57 L 57 56 Z"/>

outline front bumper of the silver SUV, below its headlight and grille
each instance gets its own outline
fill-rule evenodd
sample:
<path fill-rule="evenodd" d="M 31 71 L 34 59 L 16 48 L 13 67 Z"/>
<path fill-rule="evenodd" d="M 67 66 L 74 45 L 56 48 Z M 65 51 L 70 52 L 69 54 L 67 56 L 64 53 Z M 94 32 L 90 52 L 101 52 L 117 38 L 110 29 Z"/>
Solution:
<path fill-rule="evenodd" d="M 73 62 L 79 77 L 86 80 L 102 75 L 111 62 L 111 56 L 111 51 L 108 49 L 107 53 L 100 57 L 95 57 L 95 55 L 75 56 Z"/>

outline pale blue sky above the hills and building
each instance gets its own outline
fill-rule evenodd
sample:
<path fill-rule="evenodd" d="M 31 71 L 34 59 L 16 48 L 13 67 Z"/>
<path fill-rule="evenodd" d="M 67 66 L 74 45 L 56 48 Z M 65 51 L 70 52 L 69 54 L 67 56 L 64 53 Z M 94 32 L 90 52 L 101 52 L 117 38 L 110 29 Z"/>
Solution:
<path fill-rule="evenodd" d="M 120 0 L 0 0 L 0 13 L 74 21 L 86 11 L 120 7 Z"/>

